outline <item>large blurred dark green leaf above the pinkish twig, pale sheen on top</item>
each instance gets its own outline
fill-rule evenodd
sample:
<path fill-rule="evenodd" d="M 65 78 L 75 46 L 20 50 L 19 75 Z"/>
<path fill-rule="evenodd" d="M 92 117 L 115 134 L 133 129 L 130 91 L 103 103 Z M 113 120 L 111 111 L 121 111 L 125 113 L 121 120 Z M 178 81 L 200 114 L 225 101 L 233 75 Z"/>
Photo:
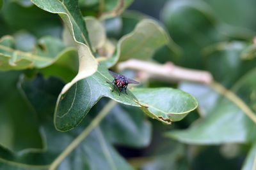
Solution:
<path fill-rule="evenodd" d="M 225 38 L 216 31 L 216 18 L 204 1 L 167 1 L 161 13 L 173 41 L 183 50 L 181 64 L 185 67 L 201 68 L 201 50 Z"/>

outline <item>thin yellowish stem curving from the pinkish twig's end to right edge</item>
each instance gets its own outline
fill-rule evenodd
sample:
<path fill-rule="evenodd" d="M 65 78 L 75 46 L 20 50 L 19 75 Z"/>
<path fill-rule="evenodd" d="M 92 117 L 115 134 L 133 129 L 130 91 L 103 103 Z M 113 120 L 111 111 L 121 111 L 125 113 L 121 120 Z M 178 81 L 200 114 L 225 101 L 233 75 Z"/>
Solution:
<path fill-rule="evenodd" d="M 214 81 L 212 81 L 211 87 L 216 92 L 220 93 L 221 95 L 232 101 L 234 104 L 236 104 L 241 110 L 243 110 L 245 115 L 247 115 L 256 124 L 255 113 L 253 113 L 253 111 L 239 97 L 237 97 L 234 92 L 227 90 L 225 87 L 223 87 L 223 85 Z"/>

